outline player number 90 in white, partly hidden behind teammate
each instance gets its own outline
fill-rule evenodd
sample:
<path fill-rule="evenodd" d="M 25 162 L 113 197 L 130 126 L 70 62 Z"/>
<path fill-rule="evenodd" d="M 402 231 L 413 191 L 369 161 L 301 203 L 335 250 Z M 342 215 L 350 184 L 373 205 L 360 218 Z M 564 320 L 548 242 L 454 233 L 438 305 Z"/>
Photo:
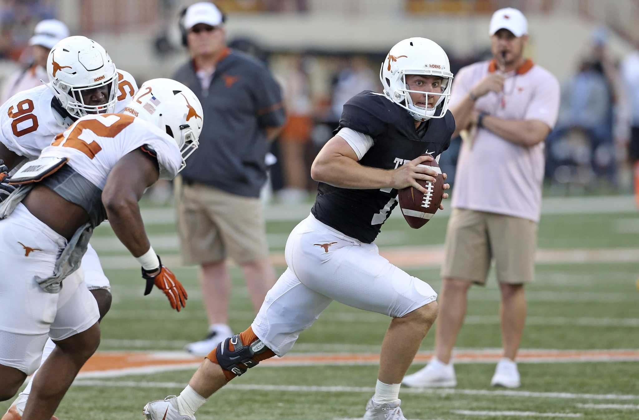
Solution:
<path fill-rule="evenodd" d="M 15 189 L 8 171 L 40 155 L 75 120 L 97 112 L 121 112 L 137 91 L 135 79 L 118 70 L 98 43 L 84 36 L 59 41 L 47 59 L 49 83 L 15 94 L 0 109 L 0 201 Z M 84 280 L 98 303 L 100 319 L 111 306 L 111 292 L 95 250 L 82 259 Z M 42 363 L 53 350 L 47 341 Z M 18 420 L 31 386 L 20 394 L 3 420 Z"/>

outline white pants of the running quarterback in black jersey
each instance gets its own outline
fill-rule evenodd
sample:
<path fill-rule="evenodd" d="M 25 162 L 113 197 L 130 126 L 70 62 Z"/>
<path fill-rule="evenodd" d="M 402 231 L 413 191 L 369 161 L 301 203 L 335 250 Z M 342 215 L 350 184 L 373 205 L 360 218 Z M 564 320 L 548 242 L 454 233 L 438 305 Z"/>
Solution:
<path fill-rule="evenodd" d="M 376 244 L 346 236 L 312 214 L 293 229 L 284 255 L 288 269 L 266 294 L 251 325 L 280 357 L 334 300 L 403 317 L 437 299 L 428 283 L 381 257 Z"/>

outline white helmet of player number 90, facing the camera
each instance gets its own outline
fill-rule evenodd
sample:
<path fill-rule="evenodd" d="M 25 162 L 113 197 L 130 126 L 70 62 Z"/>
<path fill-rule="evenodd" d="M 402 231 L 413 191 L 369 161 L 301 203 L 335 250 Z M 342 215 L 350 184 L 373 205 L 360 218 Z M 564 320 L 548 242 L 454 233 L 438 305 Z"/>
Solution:
<path fill-rule="evenodd" d="M 59 41 L 47 58 L 49 89 L 71 116 L 113 112 L 118 94 L 118 71 L 111 57 L 96 41 L 86 36 L 69 36 Z M 82 91 L 109 85 L 104 105 L 86 105 Z"/>

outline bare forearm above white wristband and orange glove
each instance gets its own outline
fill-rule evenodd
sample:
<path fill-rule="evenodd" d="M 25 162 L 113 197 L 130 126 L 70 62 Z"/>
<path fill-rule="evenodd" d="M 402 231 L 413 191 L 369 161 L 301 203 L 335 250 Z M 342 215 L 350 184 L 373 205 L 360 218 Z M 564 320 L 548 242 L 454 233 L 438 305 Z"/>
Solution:
<path fill-rule="evenodd" d="M 133 197 L 119 197 L 104 202 L 111 229 L 134 257 L 140 257 L 151 244 L 144 230 L 140 207 Z"/>

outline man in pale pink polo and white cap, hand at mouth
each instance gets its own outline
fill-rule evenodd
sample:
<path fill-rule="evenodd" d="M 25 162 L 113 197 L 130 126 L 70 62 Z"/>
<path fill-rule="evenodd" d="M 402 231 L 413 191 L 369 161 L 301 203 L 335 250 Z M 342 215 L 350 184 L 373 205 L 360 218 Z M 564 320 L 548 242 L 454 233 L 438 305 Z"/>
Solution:
<path fill-rule="evenodd" d="M 521 11 L 496 11 L 489 35 L 493 59 L 462 68 L 452 84 L 456 130 L 467 131 L 452 193 L 435 357 L 404 377 L 407 386 L 456 386 L 450 358 L 468 289 L 486 283 L 493 259 L 504 356 L 491 384 L 520 386 L 515 357 L 526 319 L 524 285 L 534 278 L 544 140 L 557 121 L 560 91 L 555 76 L 523 57 L 528 22 Z"/>

